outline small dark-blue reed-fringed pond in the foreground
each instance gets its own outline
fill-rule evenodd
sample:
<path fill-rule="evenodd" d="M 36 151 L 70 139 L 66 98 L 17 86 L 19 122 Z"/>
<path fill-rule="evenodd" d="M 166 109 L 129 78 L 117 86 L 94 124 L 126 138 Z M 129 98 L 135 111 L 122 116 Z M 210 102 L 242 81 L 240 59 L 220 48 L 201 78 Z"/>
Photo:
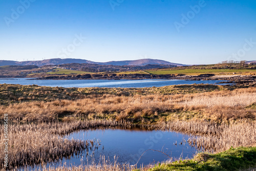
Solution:
<path fill-rule="evenodd" d="M 129 162 L 130 164 L 135 164 L 139 160 L 140 156 L 147 149 L 155 149 L 158 151 L 163 151 L 173 158 L 191 158 L 196 153 L 197 150 L 194 147 L 184 143 L 184 140 L 188 140 L 190 136 L 177 133 L 177 132 L 167 132 L 167 131 L 147 131 L 141 129 L 133 130 L 90 130 L 90 131 L 79 131 L 72 133 L 67 138 L 74 139 L 100 139 L 101 145 L 94 154 L 89 153 L 88 161 L 89 163 L 94 161 L 99 162 L 100 156 L 105 156 L 109 158 L 110 161 L 114 161 L 114 156 L 117 158 L 118 163 Z M 175 143 L 177 142 L 177 145 Z M 180 144 L 182 142 L 182 144 Z M 102 148 L 104 146 L 104 149 Z M 73 157 L 69 160 L 63 159 L 61 162 L 55 164 L 59 165 L 61 163 L 67 163 L 67 165 L 80 165 L 81 162 L 87 165 L 86 153 L 82 156 Z M 81 161 L 82 157 L 82 161 Z M 138 162 L 138 166 L 143 164 L 150 164 L 153 162 L 165 161 L 168 158 L 160 152 L 147 151 L 141 157 Z"/>

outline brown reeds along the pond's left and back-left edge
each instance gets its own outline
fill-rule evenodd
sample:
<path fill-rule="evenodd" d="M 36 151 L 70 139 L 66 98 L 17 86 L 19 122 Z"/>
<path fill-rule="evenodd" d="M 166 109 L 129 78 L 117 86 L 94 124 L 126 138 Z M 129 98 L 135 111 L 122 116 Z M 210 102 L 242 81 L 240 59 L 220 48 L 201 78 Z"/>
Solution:
<path fill-rule="evenodd" d="M 125 122 L 105 120 L 50 122 L 37 124 L 13 123 L 9 125 L 8 162 L 9 168 L 25 165 L 44 164 L 54 162 L 63 157 L 69 158 L 79 155 L 83 151 L 95 151 L 99 147 L 98 140 L 66 139 L 60 135 L 75 130 L 97 127 L 111 127 L 125 125 Z M 1 129 L 1 144 L 4 133 Z M 4 148 L 0 148 L 0 156 L 4 156 Z M 4 158 L 0 158 L 0 169 L 4 168 Z"/>

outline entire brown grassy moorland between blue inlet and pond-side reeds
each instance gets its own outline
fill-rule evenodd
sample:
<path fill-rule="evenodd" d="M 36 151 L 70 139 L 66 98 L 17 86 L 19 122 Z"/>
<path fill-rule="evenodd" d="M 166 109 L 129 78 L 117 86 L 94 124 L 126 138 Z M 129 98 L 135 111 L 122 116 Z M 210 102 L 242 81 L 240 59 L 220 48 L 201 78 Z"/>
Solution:
<path fill-rule="evenodd" d="M 50 88 L 2 84 L 0 117 L 48 121 L 66 116 L 155 123 L 256 118 L 256 88 L 182 85 L 161 88 Z"/>

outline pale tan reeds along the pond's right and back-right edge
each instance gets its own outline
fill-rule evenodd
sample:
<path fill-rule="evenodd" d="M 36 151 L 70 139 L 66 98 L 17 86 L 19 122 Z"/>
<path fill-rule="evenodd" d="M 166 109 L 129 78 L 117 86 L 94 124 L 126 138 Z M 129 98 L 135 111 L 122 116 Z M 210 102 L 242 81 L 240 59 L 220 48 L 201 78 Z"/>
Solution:
<path fill-rule="evenodd" d="M 231 146 L 250 146 L 256 143 L 256 122 L 251 120 L 239 120 L 229 124 L 209 121 L 170 121 L 145 125 L 145 127 L 190 134 L 192 137 L 188 139 L 188 143 L 202 151 L 222 152 Z"/>

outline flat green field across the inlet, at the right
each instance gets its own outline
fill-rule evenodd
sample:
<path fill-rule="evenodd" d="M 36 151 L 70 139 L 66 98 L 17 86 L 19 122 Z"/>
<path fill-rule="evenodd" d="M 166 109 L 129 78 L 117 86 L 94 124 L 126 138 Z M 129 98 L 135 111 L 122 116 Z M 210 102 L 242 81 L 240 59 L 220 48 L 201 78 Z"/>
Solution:
<path fill-rule="evenodd" d="M 186 70 L 158 70 L 158 71 L 146 71 L 150 74 L 185 74 L 185 75 L 199 75 L 204 73 L 212 73 L 212 74 L 226 74 L 226 73 L 256 73 L 256 70 L 248 70 L 248 69 L 237 69 L 237 70 L 229 70 L 229 69 L 186 69 Z"/>

